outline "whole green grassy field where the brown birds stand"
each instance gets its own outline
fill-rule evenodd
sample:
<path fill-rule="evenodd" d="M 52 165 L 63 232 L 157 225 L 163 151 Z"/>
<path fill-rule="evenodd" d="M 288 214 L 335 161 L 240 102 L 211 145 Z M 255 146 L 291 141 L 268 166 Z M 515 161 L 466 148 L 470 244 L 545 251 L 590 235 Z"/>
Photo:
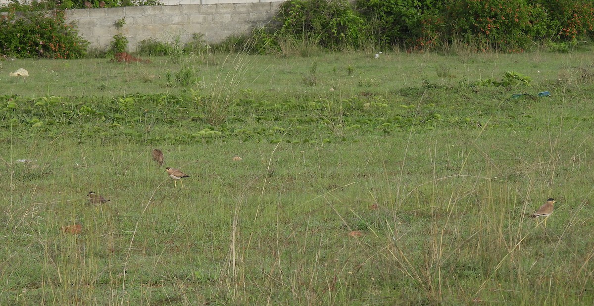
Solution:
<path fill-rule="evenodd" d="M 2 62 L 1 305 L 594 303 L 590 53 L 151 61 Z"/>

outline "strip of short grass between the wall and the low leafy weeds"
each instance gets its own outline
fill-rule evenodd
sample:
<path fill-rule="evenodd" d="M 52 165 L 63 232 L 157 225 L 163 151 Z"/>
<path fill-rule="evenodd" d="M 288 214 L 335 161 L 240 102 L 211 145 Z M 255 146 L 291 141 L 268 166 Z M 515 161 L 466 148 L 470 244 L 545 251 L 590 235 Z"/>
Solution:
<path fill-rule="evenodd" d="M 559 78 L 574 82 L 584 73 L 592 74 L 593 70 L 588 52 L 463 53 L 460 56 L 385 52 L 379 59 L 365 53 L 332 53 L 308 58 L 214 54 L 187 57 L 179 64 L 174 64 L 168 57 L 150 59 L 152 64 L 127 65 L 104 58 L 4 61 L 0 70 L 3 84 L 0 94 L 43 97 L 179 93 L 187 87 L 179 86 L 175 81 L 168 84 L 166 74 L 172 74 L 173 79 L 182 68 L 197 75 L 195 89 L 208 92 L 220 88 L 225 77 L 237 75 L 239 71 L 239 89 L 270 96 L 290 93 L 327 96 L 330 88 L 335 89 L 335 96 L 386 94 L 402 87 L 421 86 L 424 81 L 457 84 L 486 78 L 501 79 L 505 71 L 529 75 L 541 86 L 537 89 L 541 89 Z M 303 78 L 311 76 L 314 65 L 317 67 L 317 83 L 309 86 L 304 84 Z M 349 70 L 349 67 L 352 68 Z M 8 72 L 18 68 L 25 68 L 30 77 L 26 80 L 8 77 Z"/>

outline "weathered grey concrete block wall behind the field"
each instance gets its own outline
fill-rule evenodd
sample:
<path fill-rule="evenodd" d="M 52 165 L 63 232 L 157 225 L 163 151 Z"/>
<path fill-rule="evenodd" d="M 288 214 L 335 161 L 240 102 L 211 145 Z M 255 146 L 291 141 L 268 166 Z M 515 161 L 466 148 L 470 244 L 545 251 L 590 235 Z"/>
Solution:
<path fill-rule="evenodd" d="M 185 43 L 192 34 L 201 33 L 207 43 L 217 43 L 233 34 L 249 33 L 270 22 L 281 3 L 91 8 L 68 10 L 66 18 L 77 23 L 78 33 L 89 40 L 90 48 L 108 49 L 113 36 L 121 33 L 128 39 L 128 51 L 134 52 L 139 42 L 151 37 L 161 42 L 179 38 Z M 118 30 L 115 23 L 122 18 L 125 24 Z"/>

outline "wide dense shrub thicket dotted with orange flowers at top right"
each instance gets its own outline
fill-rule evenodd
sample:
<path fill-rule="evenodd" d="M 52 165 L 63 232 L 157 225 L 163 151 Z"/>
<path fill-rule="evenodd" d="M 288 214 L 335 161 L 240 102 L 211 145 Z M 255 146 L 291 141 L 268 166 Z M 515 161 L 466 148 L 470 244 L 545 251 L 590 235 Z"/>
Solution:
<path fill-rule="evenodd" d="M 594 4 L 587 0 L 358 0 L 356 7 L 369 36 L 413 50 L 463 42 L 522 52 L 535 41 L 594 36 Z"/>

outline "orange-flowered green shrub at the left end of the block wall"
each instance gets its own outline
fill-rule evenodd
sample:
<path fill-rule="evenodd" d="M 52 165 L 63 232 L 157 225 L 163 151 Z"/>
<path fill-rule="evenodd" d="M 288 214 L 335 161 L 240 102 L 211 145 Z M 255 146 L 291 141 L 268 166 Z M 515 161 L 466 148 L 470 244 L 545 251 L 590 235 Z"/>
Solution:
<path fill-rule="evenodd" d="M 0 18 L 0 53 L 19 58 L 80 58 L 89 42 L 67 24 L 64 11 L 39 11 L 18 2 Z"/>

